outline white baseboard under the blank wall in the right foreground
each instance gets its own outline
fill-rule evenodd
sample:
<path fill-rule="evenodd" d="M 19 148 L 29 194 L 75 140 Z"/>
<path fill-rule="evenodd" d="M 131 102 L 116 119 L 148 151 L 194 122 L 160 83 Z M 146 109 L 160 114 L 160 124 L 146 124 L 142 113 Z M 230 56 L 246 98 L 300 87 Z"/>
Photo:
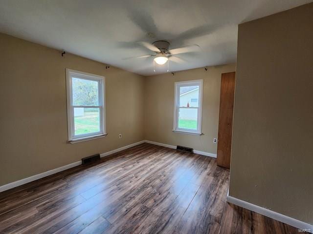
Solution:
<path fill-rule="evenodd" d="M 235 197 L 232 197 L 229 195 L 227 195 L 227 202 L 235 204 L 235 205 L 240 206 L 240 207 L 243 207 L 243 208 L 250 210 L 250 211 L 253 211 L 255 213 L 270 217 L 270 218 L 275 219 L 277 221 L 280 221 L 282 223 L 286 223 L 286 224 L 291 225 L 293 227 L 296 227 L 298 229 L 306 230 L 306 232 L 308 232 L 308 233 L 313 233 L 313 225 L 312 224 L 305 223 L 305 222 L 302 222 L 300 220 L 291 218 L 289 216 L 279 214 L 277 212 L 268 210 L 266 208 L 254 205 L 252 203 L 240 200 L 238 198 L 235 198 Z"/>

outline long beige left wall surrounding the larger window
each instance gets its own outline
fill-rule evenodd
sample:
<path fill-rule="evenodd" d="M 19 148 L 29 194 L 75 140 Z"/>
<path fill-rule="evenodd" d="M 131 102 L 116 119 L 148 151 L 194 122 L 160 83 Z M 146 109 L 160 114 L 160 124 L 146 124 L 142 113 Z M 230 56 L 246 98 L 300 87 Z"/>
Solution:
<path fill-rule="evenodd" d="M 0 51 L 0 185 L 144 139 L 144 77 L 4 34 Z M 107 137 L 67 143 L 65 68 L 106 77 Z"/>

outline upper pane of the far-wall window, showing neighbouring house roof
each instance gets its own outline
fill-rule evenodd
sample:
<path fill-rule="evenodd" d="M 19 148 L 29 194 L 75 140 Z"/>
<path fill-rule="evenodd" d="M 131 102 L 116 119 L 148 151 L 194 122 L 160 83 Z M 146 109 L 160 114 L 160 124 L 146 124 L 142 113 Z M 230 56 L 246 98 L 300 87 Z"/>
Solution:
<path fill-rule="evenodd" d="M 199 86 L 179 87 L 179 106 L 199 107 Z"/>

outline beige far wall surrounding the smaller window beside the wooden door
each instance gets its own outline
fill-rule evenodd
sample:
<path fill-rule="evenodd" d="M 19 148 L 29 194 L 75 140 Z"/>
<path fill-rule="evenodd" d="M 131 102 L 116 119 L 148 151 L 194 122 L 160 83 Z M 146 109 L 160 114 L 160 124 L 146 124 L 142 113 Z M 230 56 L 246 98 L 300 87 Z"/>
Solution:
<path fill-rule="evenodd" d="M 218 135 L 221 74 L 235 71 L 235 64 L 191 69 L 147 77 L 145 79 L 145 139 L 170 145 L 182 145 L 216 154 Z M 201 136 L 174 133 L 174 83 L 203 79 Z"/>

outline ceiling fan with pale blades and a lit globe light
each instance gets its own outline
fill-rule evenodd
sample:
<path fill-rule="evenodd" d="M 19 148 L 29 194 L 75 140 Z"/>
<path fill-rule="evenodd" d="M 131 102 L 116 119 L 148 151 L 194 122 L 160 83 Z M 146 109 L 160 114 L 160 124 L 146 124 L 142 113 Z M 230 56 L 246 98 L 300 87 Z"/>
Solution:
<path fill-rule="evenodd" d="M 153 42 L 152 44 L 149 42 L 145 42 L 145 41 L 140 41 L 137 43 L 151 50 L 152 52 L 154 52 L 154 54 L 136 56 L 136 57 L 126 58 L 126 59 L 155 57 L 154 62 L 156 62 L 159 65 L 165 64 L 169 59 L 175 62 L 183 62 L 184 61 L 183 59 L 180 59 L 179 57 L 176 57 L 175 55 L 199 51 L 200 49 L 200 46 L 197 44 L 187 45 L 187 46 L 183 46 L 183 47 L 175 48 L 175 49 L 169 49 L 170 43 L 166 40 L 157 40 Z"/>

